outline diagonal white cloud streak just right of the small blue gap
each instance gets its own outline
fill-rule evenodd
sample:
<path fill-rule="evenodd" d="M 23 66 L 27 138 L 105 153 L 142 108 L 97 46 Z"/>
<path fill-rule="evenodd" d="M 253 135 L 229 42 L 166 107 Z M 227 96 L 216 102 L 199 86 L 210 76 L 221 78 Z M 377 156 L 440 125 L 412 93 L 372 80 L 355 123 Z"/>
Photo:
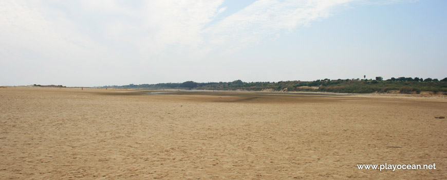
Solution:
<path fill-rule="evenodd" d="M 353 0 L 259 0 L 210 26 L 204 33 L 209 45 L 225 46 L 227 52 L 232 53 L 328 17 L 333 8 L 350 2 Z"/>

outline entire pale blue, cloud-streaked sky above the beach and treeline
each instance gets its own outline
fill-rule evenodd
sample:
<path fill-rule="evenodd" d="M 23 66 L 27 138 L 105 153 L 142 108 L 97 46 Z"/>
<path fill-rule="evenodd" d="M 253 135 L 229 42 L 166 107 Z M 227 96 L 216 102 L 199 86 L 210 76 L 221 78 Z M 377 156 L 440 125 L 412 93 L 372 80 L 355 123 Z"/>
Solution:
<path fill-rule="evenodd" d="M 447 1 L 0 0 L 0 85 L 447 77 Z"/>

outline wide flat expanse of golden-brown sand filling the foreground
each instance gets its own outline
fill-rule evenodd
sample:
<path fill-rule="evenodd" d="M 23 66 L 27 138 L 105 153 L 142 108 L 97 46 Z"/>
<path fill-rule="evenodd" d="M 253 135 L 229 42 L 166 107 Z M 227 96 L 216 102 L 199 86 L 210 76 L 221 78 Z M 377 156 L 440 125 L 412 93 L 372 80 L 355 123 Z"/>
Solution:
<path fill-rule="evenodd" d="M 0 179 L 447 179 L 445 98 L 145 93 L 0 88 Z"/>

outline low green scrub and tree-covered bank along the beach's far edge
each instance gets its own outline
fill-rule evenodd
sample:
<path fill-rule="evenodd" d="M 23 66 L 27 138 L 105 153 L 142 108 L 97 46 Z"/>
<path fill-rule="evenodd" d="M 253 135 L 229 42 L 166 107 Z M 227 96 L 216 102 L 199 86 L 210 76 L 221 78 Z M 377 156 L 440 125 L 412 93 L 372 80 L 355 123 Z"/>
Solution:
<path fill-rule="evenodd" d="M 443 92 L 447 95 L 447 78 L 442 80 L 432 78 L 390 78 L 373 79 L 322 79 L 315 81 L 279 81 L 279 82 L 208 82 L 197 83 L 187 81 L 183 83 L 158 84 L 129 84 L 124 86 L 104 86 L 117 88 L 143 89 L 203 89 L 203 90 L 240 90 L 240 91 L 280 91 L 280 92 L 333 92 L 333 93 L 390 93 L 419 94 L 420 92 Z"/>

